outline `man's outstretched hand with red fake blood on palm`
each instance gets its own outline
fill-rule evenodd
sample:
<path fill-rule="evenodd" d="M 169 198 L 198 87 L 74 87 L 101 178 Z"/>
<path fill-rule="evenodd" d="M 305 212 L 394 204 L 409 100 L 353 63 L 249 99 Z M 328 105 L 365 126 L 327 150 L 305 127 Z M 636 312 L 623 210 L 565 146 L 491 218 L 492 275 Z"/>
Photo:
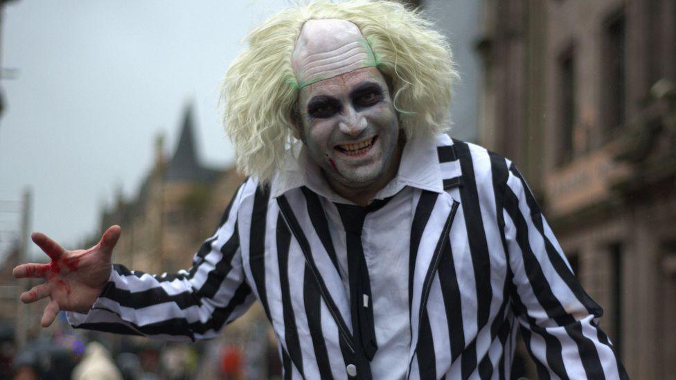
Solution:
<path fill-rule="evenodd" d="M 42 314 L 42 327 L 52 324 L 59 311 L 87 313 L 108 282 L 111 271 L 110 256 L 120 238 L 120 226 L 106 230 L 100 242 L 87 250 L 68 251 L 43 233 L 30 238 L 51 257 L 49 264 L 17 266 L 15 278 L 44 278 L 44 284 L 21 294 L 21 302 L 30 303 L 49 297 L 51 301 Z"/>

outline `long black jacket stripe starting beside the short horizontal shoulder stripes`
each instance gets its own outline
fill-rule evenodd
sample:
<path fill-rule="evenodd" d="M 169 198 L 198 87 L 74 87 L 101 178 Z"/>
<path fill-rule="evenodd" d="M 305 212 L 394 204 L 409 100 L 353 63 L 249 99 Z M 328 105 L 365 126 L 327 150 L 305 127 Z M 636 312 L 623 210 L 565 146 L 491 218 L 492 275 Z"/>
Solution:
<path fill-rule="evenodd" d="M 463 203 L 463 215 L 467 226 L 468 243 L 474 266 L 474 280 L 477 283 L 477 331 L 481 331 L 488 323 L 490 300 L 493 296 L 490 286 L 490 255 L 486 242 L 486 231 L 483 229 L 479 192 L 474 177 L 474 164 L 470 147 L 461 141 L 454 140 L 453 145 L 463 172 L 463 187 L 460 198 Z M 464 355 L 463 355 L 464 356 Z"/>

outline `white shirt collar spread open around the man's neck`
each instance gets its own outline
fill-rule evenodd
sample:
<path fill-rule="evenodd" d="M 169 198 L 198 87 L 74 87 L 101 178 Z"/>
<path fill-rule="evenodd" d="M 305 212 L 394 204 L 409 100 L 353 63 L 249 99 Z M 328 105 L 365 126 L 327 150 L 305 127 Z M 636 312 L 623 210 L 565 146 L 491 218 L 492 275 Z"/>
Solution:
<path fill-rule="evenodd" d="M 391 197 L 405 186 L 443 192 L 436 145 L 434 139 L 427 138 L 413 138 L 407 141 L 396 177 L 377 192 L 374 199 Z M 285 162 L 275 175 L 271 194 L 272 197 L 279 197 L 289 190 L 302 186 L 307 186 L 330 201 L 352 203 L 328 186 L 319 165 L 312 161 L 303 144 L 298 142 L 288 151 Z"/>

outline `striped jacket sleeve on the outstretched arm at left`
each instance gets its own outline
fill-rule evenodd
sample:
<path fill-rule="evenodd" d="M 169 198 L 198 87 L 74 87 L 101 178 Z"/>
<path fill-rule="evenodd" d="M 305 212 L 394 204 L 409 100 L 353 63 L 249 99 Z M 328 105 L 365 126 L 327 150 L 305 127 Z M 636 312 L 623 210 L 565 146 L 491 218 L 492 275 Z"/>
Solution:
<path fill-rule="evenodd" d="M 254 300 L 242 270 L 238 233 L 240 186 L 215 234 L 193 266 L 173 275 L 150 275 L 114 264 L 109 282 L 87 314 L 69 312 L 76 328 L 171 341 L 217 336 Z"/>

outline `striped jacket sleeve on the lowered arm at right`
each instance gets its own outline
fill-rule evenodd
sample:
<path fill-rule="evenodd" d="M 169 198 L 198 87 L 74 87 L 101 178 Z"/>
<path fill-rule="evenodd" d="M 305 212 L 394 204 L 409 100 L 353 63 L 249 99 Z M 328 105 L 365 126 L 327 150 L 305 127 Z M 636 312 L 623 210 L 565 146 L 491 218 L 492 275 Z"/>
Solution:
<path fill-rule="evenodd" d="M 598 327 L 603 310 L 580 286 L 514 165 L 504 194 L 512 305 L 541 379 L 628 379 Z"/>

